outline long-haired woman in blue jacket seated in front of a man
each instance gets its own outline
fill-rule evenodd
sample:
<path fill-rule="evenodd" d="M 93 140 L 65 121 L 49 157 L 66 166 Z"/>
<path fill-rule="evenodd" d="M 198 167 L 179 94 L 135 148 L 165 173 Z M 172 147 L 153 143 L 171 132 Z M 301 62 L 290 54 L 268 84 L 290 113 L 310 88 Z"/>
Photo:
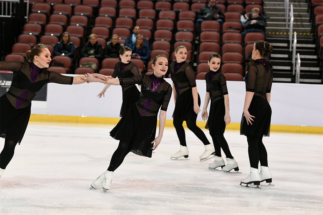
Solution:
<path fill-rule="evenodd" d="M 147 68 L 147 63 L 150 57 L 150 51 L 147 44 L 144 43 L 142 34 L 137 34 L 135 44 L 131 44 L 132 58 L 141 59 Z"/>

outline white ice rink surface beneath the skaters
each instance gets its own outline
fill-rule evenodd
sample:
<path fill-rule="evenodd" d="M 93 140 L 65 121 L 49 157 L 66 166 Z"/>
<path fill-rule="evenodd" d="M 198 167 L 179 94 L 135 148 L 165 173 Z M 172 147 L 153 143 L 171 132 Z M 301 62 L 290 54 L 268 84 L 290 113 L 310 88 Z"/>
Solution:
<path fill-rule="evenodd" d="M 224 136 L 242 174 L 227 174 L 208 170 L 213 159 L 199 161 L 204 147 L 189 130 L 191 160 L 171 160 L 179 143 L 175 129 L 165 128 L 152 158 L 130 152 L 104 193 L 89 188 L 118 145 L 112 127 L 30 122 L 0 180 L 0 214 L 323 214 L 323 135 L 271 132 L 263 141 L 275 187 L 255 190 L 239 185 L 250 170 L 239 131 Z"/>

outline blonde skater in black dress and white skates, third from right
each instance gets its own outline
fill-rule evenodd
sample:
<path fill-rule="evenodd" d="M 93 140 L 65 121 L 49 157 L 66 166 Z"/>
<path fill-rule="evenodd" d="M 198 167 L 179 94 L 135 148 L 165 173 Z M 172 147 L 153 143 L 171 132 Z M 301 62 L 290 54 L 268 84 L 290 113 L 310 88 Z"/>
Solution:
<path fill-rule="evenodd" d="M 180 141 L 180 151 L 173 153 L 171 158 L 173 160 L 178 160 L 181 157 L 188 159 L 189 151 L 186 146 L 185 130 L 183 127 L 183 122 L 186 121 L 188 129 L 204 144 L 205 151 L 200 156 L 200 161 L 203 161 L 214 153 L 214 147 L 210 144 L 204 132 L 196 125 L 197 114 L 201 111 L 201 99 L 196 88 L 195 73 L 193 68 L 185 62 L 187 58 L 185 46 L 181 45 L 176 48 L 175 57 L 176 61 L 170 64 L 169 70 L 173 81 L 175 100 L 173 124 Z"/>

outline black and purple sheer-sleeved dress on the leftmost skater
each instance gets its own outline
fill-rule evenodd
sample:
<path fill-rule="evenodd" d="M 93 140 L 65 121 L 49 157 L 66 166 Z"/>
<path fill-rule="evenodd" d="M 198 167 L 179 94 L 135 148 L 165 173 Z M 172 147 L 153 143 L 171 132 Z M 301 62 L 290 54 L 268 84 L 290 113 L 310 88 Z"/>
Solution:
<path fill-rule="evenodd" d="M 0 137 L 20 144 L 36 94 L 47 83 L 72 84 L 73 77 L 20 61 L 0 62 L 0 68 L 14 75 L 9 91 L 0 98 Z"/>

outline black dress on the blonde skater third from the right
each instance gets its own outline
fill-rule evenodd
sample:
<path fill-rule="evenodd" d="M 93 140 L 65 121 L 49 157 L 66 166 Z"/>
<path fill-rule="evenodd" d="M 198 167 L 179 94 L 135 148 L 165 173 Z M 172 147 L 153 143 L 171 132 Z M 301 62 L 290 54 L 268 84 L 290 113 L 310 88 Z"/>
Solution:
<path fill-rule="evenodd" d="M 173 112 L 173 119 L 179 121 L 186 121 L 186 118 L 197 118 L 194 112 L 194 100 L 192 94 L 192 87 L 196 87 L 195 73 L 192 67 L 186 63 L 177 63 L 173 61 L 170 66 L 170 74 L 177 93 L 175 109 Z M 198 94 L 198 104 L 200 106 L 201 99 Z"/>

